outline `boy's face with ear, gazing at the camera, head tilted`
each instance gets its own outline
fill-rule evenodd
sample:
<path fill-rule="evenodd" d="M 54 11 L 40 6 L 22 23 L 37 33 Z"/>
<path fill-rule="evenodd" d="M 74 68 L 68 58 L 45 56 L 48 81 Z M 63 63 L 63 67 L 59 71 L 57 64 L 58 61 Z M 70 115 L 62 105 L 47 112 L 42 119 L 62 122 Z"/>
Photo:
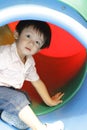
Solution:
<path fill-rule="evenodd" d="M 15 32 L 17 37 L 17 50 L 20 56 L 36 54 L 44 44 L 44 36 L 39 31 L 29 26 L 25 28 L 20 36 Z"/>

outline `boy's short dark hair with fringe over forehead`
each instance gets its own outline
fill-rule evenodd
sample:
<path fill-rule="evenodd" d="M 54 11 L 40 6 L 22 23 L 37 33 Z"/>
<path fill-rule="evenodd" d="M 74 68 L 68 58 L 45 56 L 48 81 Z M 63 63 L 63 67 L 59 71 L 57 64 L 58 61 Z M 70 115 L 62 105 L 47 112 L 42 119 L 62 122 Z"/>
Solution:
<path fill-rule="evenodd" d="M 33 26 L 36 30 L 44 35 L 45 43 L 41 49 L 49 47 L 51 41 L 51 29 L 48 23 L 39 20 L 21 20 L 16 26 L 16 31 L 21 34 L 22 30 L 26 27 Z"/>

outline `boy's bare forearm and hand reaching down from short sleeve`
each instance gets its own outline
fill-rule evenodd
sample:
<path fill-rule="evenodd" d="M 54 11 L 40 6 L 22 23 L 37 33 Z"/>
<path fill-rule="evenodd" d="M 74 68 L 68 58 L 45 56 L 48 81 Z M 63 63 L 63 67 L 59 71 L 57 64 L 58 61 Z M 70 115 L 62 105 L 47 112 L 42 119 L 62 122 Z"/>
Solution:
<path fill-rule="evenodd" d="M 37 80 L 31 82 L 38 94 L 41 96 L 42 100 L 48 105 L 48 106 L 55 106 L 62 102 L 62 96 L 64 93 L 57 93 L 54 96 L 50 96 L 48 93 L 48 90 L 45 86 L 45 84 L 42 82 L 42 80 Z"/>

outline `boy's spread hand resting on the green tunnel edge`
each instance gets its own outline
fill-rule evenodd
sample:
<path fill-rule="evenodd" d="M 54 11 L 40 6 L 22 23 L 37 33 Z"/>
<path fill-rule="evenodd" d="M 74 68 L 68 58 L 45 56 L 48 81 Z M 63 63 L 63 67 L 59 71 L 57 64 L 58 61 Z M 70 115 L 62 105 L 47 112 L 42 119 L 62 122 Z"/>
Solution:
<path fill-rule="evenodd" d="M 52 106 L 56 106 L 59 103 L 62 103 L 63 100 L 61 99 L 63 97 L 64 93 L 62 92 L 58 92 L 57 94 L 55 94 L 54 96 L 51 97 L 52 99 Z"/>

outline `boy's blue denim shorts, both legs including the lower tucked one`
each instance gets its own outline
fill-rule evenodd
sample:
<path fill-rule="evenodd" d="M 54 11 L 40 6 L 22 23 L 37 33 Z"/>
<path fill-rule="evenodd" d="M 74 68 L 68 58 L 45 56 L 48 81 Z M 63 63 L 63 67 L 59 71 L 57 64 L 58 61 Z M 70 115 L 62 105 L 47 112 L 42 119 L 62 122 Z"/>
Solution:
<path fill-rule="evenodd" d="M 30 102 L 25 93 L 15 89 L 0 86 L 0 110 L 1 119 L 18 129 L 26 129 L 28 126 L 18 117 L 19 111 Z"/>

